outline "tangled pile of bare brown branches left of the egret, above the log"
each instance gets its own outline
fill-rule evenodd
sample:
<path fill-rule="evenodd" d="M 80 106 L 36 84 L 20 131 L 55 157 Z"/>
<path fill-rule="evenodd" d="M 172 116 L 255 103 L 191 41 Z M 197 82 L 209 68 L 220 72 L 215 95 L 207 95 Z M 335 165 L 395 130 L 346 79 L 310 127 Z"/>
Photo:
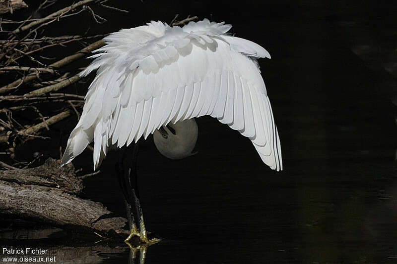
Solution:
<path fill-rule="evenodd" d="M 97 23 L 104 23 L 106 19 L 97 15 L 92 5 L 127 12 L 105 5 L 106 1 L 81 0 L 42 18 L 0 18 L 0 155 L 13 158 L 16 146 L 32 138 L 43 138 L 44 130 L 70 115 L 79 118 L 84 96 L 67 92 L 66 88 L 80 81 L 81 69 L 66 66 L 101 47 L 104 42 L 99 39 L 106 35 L 49 37 L 45 33 L 57 22 L 82 12 L 90 13 Z M 56 2 L 44 0 L 33 13 L 46 13 Z M 96 42 L 89 44 L 92 41 Z M 80 50 L 59 57 L 66 44 L 76 43 L 81 44 Z M 47 50 L 51 50 L 51 57 L 45 53 Z M 4 163 L 0 166 L 6 167 Z"/>

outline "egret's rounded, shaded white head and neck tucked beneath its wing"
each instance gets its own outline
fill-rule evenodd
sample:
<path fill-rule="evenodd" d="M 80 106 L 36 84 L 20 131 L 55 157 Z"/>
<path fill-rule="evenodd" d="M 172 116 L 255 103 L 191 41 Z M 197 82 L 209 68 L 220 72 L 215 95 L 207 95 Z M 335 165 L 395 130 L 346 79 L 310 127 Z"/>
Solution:
<path fill-rule="evenodd" d="M 170 122 L 153 133 L 157 150 L 169 159 L 183 159 L 194 155 L 199 128 L 195 119 Z"/>

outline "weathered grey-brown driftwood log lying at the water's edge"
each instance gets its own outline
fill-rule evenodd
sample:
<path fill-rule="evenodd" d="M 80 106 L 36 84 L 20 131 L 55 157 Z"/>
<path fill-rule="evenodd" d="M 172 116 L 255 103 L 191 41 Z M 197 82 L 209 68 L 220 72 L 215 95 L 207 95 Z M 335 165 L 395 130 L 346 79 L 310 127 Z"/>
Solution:
<path fill-rule="evenodd" d="M 96 232 L 106 237 L 125 237 L 127 220 L 107 218 L 102 204 L 79 198 L 82 180 L 71 164 L 60 167 L 49 158 L 32 169 L 0 171 L 0 215 L 35 220 L 64 229 Z"/>

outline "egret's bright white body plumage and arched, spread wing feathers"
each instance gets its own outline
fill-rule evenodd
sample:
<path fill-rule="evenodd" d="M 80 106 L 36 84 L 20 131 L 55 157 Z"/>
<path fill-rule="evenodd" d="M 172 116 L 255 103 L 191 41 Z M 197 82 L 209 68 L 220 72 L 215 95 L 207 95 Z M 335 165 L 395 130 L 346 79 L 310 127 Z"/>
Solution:
<path fill-rule="evenodd" d="M 183 28 L 161 22 L 124 29 L 82 75 L 97 70 L 62 164 L 94 140 L 94 169 L 110 145 L 122 147 L 169 122 L 216 117 L 249 137 L 262 160 L 282 170 L 281 148 L 251 41 L 225 35 L 230 25 L 204 19 Z"/>

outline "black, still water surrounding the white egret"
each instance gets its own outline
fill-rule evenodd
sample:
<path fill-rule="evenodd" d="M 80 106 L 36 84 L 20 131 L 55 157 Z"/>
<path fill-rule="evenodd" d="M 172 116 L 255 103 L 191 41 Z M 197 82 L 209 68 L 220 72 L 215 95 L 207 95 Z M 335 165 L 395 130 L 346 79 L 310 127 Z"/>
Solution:
<path fill-rule="evenodd" d="M 187 159 L 162 157 L 149 137 L 138 161 L 141 203 L 148 230 L 165 239 L 147 249 L 146 264 L 397 261 L 392 7 L 136 1 L 125 7 L 128 15 L 102 11 L 106 32 L 169 22 L 175 13 L 212 16 L 272 56 L 260 64 L 284 171 L 271 171 L 247 138 L 209 117 L 197 120 L 199 153 Z M 68 122 L 71 129 L 75 120 Z M 49 146 L 54 153 L 57 144 Z M 115 156 L 85 181 L 85 195 L 124 215 Z M 74 164 L 91 170 L 92 153 Z M 13 229 L 0 242 L 52 249 L 58 263 L 129 263 L 131 257 L 124 243 L 95 244 L 69 232 L 26 240 L 26 232 L 33 231 Z"/>

